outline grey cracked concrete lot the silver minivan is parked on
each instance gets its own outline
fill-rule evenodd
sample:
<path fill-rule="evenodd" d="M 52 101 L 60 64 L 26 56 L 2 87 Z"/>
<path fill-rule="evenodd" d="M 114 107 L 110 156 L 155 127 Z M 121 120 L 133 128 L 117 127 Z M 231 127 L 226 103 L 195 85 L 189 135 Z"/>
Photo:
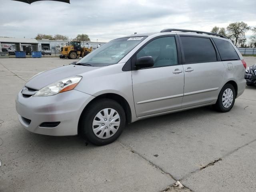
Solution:
<path fill-rule="evenodd" d="M 228 113 L 208 106 L 141 120 L 107 146 L 22 128 L 15 97 L 24 83 L 72 61 L 0 59 L 1 192 L 159 192 L 176 180 L 186 191 L 256 191 L 256 87 L 246 86 Z"/>

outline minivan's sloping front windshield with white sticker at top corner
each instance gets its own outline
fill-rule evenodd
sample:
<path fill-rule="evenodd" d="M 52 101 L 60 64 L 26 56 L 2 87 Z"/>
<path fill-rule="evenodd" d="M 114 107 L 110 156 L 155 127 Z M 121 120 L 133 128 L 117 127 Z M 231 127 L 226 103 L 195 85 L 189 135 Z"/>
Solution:
<path fill-rule="evenodd" d="M 145 38 L 146 36 L 140 36 L 112 40 L 97 48 L 77 63 L 86 63 L 91 66 L 116 64 Z"/>

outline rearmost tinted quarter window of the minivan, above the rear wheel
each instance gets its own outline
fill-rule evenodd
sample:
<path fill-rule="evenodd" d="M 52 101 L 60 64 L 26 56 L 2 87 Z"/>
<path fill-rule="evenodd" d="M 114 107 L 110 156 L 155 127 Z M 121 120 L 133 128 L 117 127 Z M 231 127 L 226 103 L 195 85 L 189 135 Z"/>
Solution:
<path fill-rule="evenodd" d="M 239 60 L 239 56 L 232 46 L 232 44 L 228 41 L 222 39 L 212 38 L 214 43 L 217 46 L 217 49 L 220 53 L 221 60 Z"/>

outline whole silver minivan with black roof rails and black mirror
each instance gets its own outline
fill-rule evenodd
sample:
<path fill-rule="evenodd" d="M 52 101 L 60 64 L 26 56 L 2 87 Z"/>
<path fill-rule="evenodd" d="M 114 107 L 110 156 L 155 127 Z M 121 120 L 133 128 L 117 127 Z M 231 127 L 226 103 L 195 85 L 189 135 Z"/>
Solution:
<path fill-rule="evenodd" d="M 16 110 L 31 132 L 105 145 L 140 119 L 206 105 L 228 112 L 244 92 L 245 69 L 240 52 L 219 34 L 135 34 L 32 77 Z"/>

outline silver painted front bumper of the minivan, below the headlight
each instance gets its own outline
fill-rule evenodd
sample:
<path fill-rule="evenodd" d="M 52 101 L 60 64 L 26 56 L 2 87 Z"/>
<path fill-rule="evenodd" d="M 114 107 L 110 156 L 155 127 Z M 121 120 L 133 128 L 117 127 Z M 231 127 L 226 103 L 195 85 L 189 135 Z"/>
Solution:
<path fill-rule="evenodd" d="M 77 90 L 28 98 L 19 92 L 16 98 L 18 120 L 30 132 L 52 136 L 76 135 L 80 115 L 93 98 L 94 96 Z M 40 127 L 43 122 L 60 124 L 53 128 Z"/>

